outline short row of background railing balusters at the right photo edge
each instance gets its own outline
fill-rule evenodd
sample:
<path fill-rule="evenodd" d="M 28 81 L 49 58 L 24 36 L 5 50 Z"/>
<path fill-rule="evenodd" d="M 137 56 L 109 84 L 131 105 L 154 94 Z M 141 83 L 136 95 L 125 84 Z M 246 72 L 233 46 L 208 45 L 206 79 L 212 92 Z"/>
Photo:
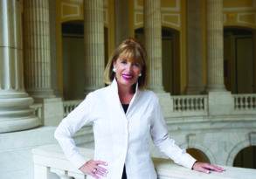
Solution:
<path fill-rule="evenodd" d="M 233 94 L 235 110 L 255 110 L 256 94 Z"/>

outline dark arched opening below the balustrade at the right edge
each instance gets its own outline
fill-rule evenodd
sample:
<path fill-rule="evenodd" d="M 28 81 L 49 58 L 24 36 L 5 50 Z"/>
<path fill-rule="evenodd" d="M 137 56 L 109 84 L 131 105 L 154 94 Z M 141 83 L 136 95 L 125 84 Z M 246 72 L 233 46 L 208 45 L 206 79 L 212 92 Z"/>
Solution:
<path fill-rule="evenodd" d="M 239 151 L 233 162 L 234 167 L 256 169 L 256 146 L 250 146 Z"/>

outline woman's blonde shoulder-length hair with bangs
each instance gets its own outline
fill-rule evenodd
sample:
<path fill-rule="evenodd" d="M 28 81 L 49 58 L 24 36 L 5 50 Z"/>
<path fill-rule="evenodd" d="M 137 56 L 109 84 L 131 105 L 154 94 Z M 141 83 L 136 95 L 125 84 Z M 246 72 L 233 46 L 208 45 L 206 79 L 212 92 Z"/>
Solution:
<path fill-rule="evenodd" d="M 133 62 L 139 63 L 142 66 L 142 76 L 138 79 L 138 86 L 140 89 L 146 88 L 148 85 L 148 73 L 146 65 L 146 52 L 144 47 L 135 38 L 128 38 L 124 40 L 114 50 L 110 59 L 108 59 L 107 66 L 104 71 L 104 78 L 106 84 L 111 84 L 115 73 L 113 72 L 113 64 L 119 57 L 125 57 Z"/>

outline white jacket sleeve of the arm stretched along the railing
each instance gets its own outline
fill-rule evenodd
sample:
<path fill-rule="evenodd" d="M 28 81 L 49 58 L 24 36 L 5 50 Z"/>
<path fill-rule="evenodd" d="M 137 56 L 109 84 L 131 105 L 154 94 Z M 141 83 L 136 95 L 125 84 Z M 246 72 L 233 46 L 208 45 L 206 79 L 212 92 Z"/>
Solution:
<path fill-rule="evenodd" d="M 193 164 L 197 160 L 186 153 L 184 149 L 179 148 L 173 139 L 170 139 L 157 97 L 155 100 L 153 118 L 151 119 L 150 133 L 154 144 L 161 152 L 169 156 L 177 164 L 192 169 Z"/>

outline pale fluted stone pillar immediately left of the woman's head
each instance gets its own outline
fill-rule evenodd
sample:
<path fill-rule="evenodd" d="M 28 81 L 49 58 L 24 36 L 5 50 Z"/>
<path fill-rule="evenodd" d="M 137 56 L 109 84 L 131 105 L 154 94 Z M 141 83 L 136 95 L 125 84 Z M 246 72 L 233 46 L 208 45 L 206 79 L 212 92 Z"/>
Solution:
<path fill-rule="evenodd" d="M 103 0 L 84 1 L 85 93 L 104 86 Z"/>

